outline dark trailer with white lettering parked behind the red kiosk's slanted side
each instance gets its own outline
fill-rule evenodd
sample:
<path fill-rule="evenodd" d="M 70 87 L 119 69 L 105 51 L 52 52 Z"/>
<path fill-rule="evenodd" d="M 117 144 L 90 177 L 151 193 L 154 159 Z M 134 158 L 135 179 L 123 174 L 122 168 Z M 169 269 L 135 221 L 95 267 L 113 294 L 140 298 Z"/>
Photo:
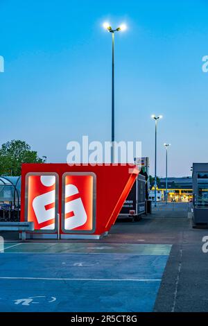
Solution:
<path fill-rule="evenodd" d="M 138 221 L 141 214 L 146 213 L 146 178 L 138 175 L 128 197 L 126 198 L 118 218 L 132 218 Z"/>

